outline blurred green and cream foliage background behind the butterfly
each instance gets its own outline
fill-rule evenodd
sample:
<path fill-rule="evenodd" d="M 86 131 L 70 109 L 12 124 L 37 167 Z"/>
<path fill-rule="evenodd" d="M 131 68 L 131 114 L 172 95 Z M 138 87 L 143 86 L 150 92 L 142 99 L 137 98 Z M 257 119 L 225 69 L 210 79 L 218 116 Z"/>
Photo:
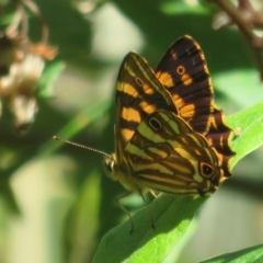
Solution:
<path fill-rule="evenodd" d="M 115 80 L 123 57 L 136 50 L 155 68 L 168 47 L 188 34 L 205 53 L 216 102 L 226 115 L 262 101 L 263 87 L 243 36 L 235 27 L 211 28 L 218 11 L 211 3 L 35 2 L 48 25 L 49 43 L 59 49 L 46 66 L 47 78 L 58 78 L 39 94 L 36 121 L 25 135 L 15 133 L 8 110 L 3 111 L 0 262 L 87 263 L 103 235 L 127 219 L 115 204 L 124 188 L 106 178 L 100 155 L 52 136 L 114 151 Z M 33 18 L 32 41 L 38 32 Z M 263 243 L 262 155 L 260 148 L 240 161 L 233 176 L 202 207 L 197 231 L 182 248 L 180 262 Z M 133 211 L 144 206 L 136 195 L 123 204 Z"/>

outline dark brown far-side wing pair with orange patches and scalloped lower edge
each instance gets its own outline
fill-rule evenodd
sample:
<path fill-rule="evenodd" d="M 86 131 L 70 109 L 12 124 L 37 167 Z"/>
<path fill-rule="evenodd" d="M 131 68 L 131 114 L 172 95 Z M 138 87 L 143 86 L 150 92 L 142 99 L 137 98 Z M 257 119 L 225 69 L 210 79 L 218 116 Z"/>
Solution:
<path fill-rule="evenodd" d="M 214 103 L 211 80 L 199 45 L 187 35 L 178 39 L 163 56 L 156 76 L 173 98 L 179 114 L 217 150 L 225 175 L 230 176 L 229 160 L 235 156 L 230 147 L 232 130 Z"/>

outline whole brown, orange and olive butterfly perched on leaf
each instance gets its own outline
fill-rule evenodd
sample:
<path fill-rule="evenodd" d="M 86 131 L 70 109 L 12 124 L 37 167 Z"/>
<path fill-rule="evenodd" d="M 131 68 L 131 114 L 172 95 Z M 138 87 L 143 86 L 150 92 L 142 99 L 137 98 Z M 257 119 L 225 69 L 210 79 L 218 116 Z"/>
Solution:
<path fill-rule="evenodd" d="M 136 53 L 116 81 L 115 153 L 105 156 L 111 179 L 127 192 L 207 195 L 231 175 L 231 129 L 214 103 L 204 54 L 191 36 L 178 39 L 157 70 Z M 145 202 L 146 203 L 146 202 Z M 151 217 L 152 227 L 155 226 Z"/>

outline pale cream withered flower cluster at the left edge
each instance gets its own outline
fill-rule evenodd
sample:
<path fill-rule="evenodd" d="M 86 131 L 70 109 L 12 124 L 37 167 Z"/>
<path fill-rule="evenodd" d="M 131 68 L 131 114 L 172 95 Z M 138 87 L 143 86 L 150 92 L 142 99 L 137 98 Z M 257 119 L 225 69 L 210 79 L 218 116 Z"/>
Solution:
<path fill-rule="evenodd" d="M 23 130 L 34 122 L 37 112 L 37 81 L 44 69 L 39 56 L 27 54 L 24 60 L 11 66 L 10 75 L 0 79 L 0 93 L 14 115 L 15 127 Z"/>

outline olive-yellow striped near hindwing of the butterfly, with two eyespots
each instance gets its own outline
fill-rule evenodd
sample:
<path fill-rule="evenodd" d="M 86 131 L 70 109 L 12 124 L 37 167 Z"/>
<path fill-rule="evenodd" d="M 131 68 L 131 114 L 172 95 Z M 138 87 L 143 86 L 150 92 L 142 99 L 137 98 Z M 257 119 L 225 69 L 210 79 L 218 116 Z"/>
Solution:
<path fill-rule="evenodd" d="M 218 156 L 205 137 L 171 112 L 158 111 L 144 119 L 125 151 L 139 191 L 205 195 L 224 180 Z"/>

